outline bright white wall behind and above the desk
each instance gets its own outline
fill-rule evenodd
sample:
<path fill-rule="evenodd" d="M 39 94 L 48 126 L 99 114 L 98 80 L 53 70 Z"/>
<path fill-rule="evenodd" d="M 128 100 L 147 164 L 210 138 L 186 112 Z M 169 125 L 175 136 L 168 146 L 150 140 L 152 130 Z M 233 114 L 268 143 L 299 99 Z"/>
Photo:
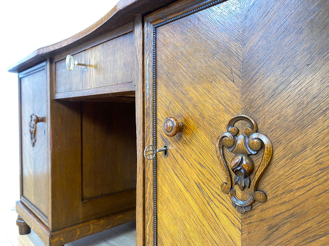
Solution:
<path fill-rule="evenodd" d="M 7 72 L 34 50 L 57 43 L 94 24 L 118 0 L 11 0 L 0 5 L 0 194 L 9 186 L 19 199 L 17 74 Z M 12 199 L 9 198 L 8 199 Z M 12 202 L 14 206 L 14 200 Z"/>

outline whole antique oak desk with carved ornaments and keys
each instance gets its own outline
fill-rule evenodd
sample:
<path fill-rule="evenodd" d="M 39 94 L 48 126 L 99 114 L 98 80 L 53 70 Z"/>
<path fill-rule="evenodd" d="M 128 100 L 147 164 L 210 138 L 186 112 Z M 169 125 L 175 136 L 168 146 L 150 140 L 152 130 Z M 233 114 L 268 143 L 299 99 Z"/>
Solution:
<path fill-rule="evenodd" d="M 135 196 L 137 245 L 325 245 L 329 3 L 170 2 L 121 1 L 10 69 L 17 212 L 48 245 L 134 219 Z"/>

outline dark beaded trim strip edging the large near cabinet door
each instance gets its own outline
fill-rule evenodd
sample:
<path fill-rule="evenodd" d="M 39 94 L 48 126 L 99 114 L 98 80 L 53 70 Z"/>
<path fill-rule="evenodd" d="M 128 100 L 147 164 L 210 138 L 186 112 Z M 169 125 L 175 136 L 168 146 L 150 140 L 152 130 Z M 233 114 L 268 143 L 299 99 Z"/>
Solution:
<path fill-rule="evenodd" d="M 153 146 L 156 148 L 156 28 L 166 25 L 170 22 L 174 22 L 177 19 L 186 17 L 188 15 L 191 15 L 193 13 L 196 13 L 198 11 L 201 11 L 203 9 L 212 7 L 216 4 L 219 4 L 221 2 L 225 2 L 225 0 L 215 0 L 210 3 L 204 4 L 202 6 L 199 6 L 197 8 L 194 8 L 188 12 L 185 12 L 183 14 L 174 16 L 172 18 L 169 18 L 167 20 L 164 20 L 163 22 L 160 22 L 158 24 L 155 24 L 152 26 L 152 32 L 153 32 L 153 37 L 152 37 L 152 111 L 153 111 Z M 157 245 L 157 204 L 156 204 L 156 193 L 157 193 L 157 182 L 156 182 L 156 156 L 153 158 L 153 230 L 154 230 L 154 238 L 153 238 L 153 245 Z"/>

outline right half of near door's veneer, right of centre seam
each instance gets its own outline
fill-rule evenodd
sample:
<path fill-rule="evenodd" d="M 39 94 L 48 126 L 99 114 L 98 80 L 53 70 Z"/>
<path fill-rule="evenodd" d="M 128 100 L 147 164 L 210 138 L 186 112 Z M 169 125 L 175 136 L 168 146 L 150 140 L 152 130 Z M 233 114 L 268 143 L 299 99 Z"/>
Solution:
<path fill-rule="evenodd" d="M 245 1 L 243 113 L 273 144 L 242 245 L 329 241 L 329 2 Z"/>

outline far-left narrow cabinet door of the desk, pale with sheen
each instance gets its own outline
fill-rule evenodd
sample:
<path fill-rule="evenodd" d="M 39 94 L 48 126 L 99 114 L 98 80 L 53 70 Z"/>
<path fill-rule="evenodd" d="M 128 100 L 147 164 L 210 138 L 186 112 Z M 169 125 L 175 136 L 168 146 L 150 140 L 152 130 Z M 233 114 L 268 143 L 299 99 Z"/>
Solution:
<path fill-rule="evenodd" d="M 20 76 L 21 198 L 44 222 L 48 214 L 47 74 L 42 64 Z M 31 115 L 43 119 L 33 127 Z M 31 130 L 32 134 L 31 134 Z M 31 141 L 31 135 L 33 144 Z"/>

